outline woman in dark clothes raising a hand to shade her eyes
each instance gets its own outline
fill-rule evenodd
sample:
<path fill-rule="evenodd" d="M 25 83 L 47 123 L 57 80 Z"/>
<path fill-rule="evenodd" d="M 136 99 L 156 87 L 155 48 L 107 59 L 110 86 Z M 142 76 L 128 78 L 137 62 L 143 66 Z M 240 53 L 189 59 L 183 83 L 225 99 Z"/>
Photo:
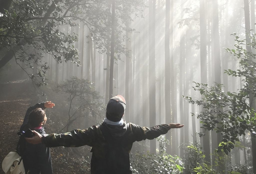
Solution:
<path fill-rule="evenodd" d="M 20 127 L 20 132 L 26 132 L 28 129 L 38 132 L 40 135 L 45 135 L 45 130 L 42 127 L 46 120 L 45 109 L 52 108 L 54 103 L 42 102 L 27 109 L 24 121 Z M 44 144 L 30 144 L 27 141 L 23 142 L 22 157 L 26 174 L 52 174 L 52 159 L 50 149 Z"/>

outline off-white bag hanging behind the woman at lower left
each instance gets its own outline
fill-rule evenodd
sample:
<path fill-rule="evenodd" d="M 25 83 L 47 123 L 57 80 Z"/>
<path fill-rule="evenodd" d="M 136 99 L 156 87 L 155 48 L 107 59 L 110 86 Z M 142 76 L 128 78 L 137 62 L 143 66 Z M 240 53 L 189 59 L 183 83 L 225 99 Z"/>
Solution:
<path fill-rule="evenodd" d="M 6 174 L 25 174 L 23 161 L 17 152 L 10 152 L 2 162 Z"/>

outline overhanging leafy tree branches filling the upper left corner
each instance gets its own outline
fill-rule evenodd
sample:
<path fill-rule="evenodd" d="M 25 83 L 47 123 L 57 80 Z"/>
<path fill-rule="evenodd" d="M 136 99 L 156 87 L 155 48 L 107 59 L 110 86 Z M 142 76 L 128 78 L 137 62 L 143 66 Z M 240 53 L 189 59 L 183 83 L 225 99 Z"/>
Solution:
<path fill-rule="evenodd" d="M 0 0 L 2 1 L 2 0 Z M 101 53 L 110 41 L 111 4 L 108 0 L 14 0 L 0 7 L 0 68 L 13 56 L 37 86 L 46 83 L 49 65 L 44 61 L 50 54 L 57 63 L 71 61 L 80 66 L 78 49 L 74 42 L 78 35 L 71 30 L 78 22 L 90 30 L 87 38 L 97 43 Z M 125 53 L 123 41 L 125 23 L 140 16 L 142 0 L 116 0 L 116 46 L 120 55 Z M 3 2 L 4 3 L 4 2 Z M 133 15 L 132 15 L 133 14 Z M 65 29 L 63 29 L 65 27 Z M 25 67 L 24 67 L 25 65 Z M 35 67 L 36 66 L 36 67 Z M 36 69 L 30 73 L 28 69 Z"/>

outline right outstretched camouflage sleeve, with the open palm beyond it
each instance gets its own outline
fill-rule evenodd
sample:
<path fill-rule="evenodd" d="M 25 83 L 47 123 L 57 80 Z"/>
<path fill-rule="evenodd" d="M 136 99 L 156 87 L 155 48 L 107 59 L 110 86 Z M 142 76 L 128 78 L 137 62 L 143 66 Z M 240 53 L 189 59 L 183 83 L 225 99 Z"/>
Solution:
<path fill-rule="evenodd" d="M 148 127 L 141 127 L 139 125 L 131 124 L 131 129 L 133 135 L 135 137 L 135 141 L 142 141 L 142 140 L 153 140 L 154 138 L 159 137 L 160 135 L 166 134 L 170 127 L 167 124 L 161 124 L 157 126 L 153 126 L 151 128 Z"/>

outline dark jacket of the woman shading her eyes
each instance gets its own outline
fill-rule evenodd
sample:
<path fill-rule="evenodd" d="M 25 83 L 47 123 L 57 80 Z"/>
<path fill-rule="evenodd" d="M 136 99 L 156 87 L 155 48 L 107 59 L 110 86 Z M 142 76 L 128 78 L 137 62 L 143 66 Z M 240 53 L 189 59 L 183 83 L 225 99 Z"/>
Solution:
<path fill-rule="evenodd" d="M 28 129 L 27 123 L 29 121 L 29 113 L 36 108 L 45 109 L 44 102 L 37 103 L 36 105 L 31 106 L 29 107 L 29 109 L 27 109 L 23 124 L 20 127 L 20 132 L 26 131 Z M 32 130 L 37 131 L 41 135 L 46 134 L 44 128 Z M 26 174 L 39 174 L 40 172 L 41 174 L 52 174 L 53 172 L 50 148 L 46 147 L 42 143 L 30 144 L 27 143 L 27 141 L 24 141 L 24 143 L 25 151 L 22 158 Z"/>

